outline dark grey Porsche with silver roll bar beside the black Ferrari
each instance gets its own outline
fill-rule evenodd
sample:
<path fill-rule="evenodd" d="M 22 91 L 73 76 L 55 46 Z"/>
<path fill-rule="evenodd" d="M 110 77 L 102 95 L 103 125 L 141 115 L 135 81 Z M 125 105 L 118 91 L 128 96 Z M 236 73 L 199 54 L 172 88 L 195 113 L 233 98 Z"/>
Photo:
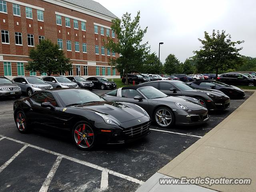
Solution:
<path fill-rule="evenodd" d="M 167 96 L 152 86 L 128 86 L 105 94 L 109 101 L 136 104 L 154 119 L 158 126 L 167 128 L 174 124 L 192 125 L 208 121 L 208 110 L 190 97 Z"/>

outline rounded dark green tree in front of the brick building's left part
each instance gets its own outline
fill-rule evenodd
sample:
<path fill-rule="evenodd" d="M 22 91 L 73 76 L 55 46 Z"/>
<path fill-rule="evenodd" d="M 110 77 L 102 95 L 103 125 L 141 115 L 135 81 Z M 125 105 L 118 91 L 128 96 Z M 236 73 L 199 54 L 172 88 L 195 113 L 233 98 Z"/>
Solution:
<path fill-rule="evenodd" d="M 72 67 L 63 50 L 59 50 L 58 44 L 49 39 L 41 40 L 36 48 L 32 48 L 29 58 L 31 61 L 25 66 L 26 70 L 39 71 L 40 74 L 46 72 L 48 76 L 66 72 Z"/>

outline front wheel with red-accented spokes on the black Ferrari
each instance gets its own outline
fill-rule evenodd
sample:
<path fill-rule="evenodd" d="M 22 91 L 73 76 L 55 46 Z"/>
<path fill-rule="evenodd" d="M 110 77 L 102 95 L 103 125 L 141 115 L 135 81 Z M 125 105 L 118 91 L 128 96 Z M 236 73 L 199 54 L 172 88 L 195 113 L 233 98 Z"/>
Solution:
<path fill-rule="evenodd" d="M 95 136 L 88 122 L 78 122 L 72 131 L 73 140 L 82 150 L 90 150 L 94 146 Z"/>

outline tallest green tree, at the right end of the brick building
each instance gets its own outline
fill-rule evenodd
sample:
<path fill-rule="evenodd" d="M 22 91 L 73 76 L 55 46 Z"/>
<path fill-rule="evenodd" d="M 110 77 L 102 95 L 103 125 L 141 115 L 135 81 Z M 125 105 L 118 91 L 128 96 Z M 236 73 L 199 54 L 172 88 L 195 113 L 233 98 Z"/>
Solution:
<path fill-rule="evenodd" d="M 140 28 L 140 12 L 137 13 L 134 20 L 131 20 L 131 14 L 126 12 L 122 19 L 116 18 L 112 22 L 111 28 L 116 33 L 118 40 L 114 42 L 112 38 L 108 38 L 108 42 L 104 41 L 104 46 L 120 54 L 120 57 L 110 59 L 109 63 L 118 71 L 124 69 L 126 84 L 128 84 L 127 74 L 134 71 L 140 72 L 143 69 L 144 60 L 150 50 L 148 42 L 141 43 L 148 27 L 144 30 Z"/>

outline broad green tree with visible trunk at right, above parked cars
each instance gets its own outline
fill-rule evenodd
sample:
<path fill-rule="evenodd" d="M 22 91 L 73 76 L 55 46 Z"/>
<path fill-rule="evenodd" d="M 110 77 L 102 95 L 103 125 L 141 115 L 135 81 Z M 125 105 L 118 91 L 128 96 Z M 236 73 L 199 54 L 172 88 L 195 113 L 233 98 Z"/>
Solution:
<path fill-rule="evenodd" d="M 198 38 L 202 43 L 199 51 L 193 51 L 195 60 L 197 60 L 197 70 L 199 72 L 215 70 L 216 79 L 218 77 L 218 70 L 227 70 L 229 68 L 236 68 L 243 63 L 243 59 L 239 54 L 241 48 L 236 48 L 237 44 L 244 41 L 231 41 L 230 34 L 218 30 L 212 30 L 212 35 L 204 32 L 204 39 Z"/>

